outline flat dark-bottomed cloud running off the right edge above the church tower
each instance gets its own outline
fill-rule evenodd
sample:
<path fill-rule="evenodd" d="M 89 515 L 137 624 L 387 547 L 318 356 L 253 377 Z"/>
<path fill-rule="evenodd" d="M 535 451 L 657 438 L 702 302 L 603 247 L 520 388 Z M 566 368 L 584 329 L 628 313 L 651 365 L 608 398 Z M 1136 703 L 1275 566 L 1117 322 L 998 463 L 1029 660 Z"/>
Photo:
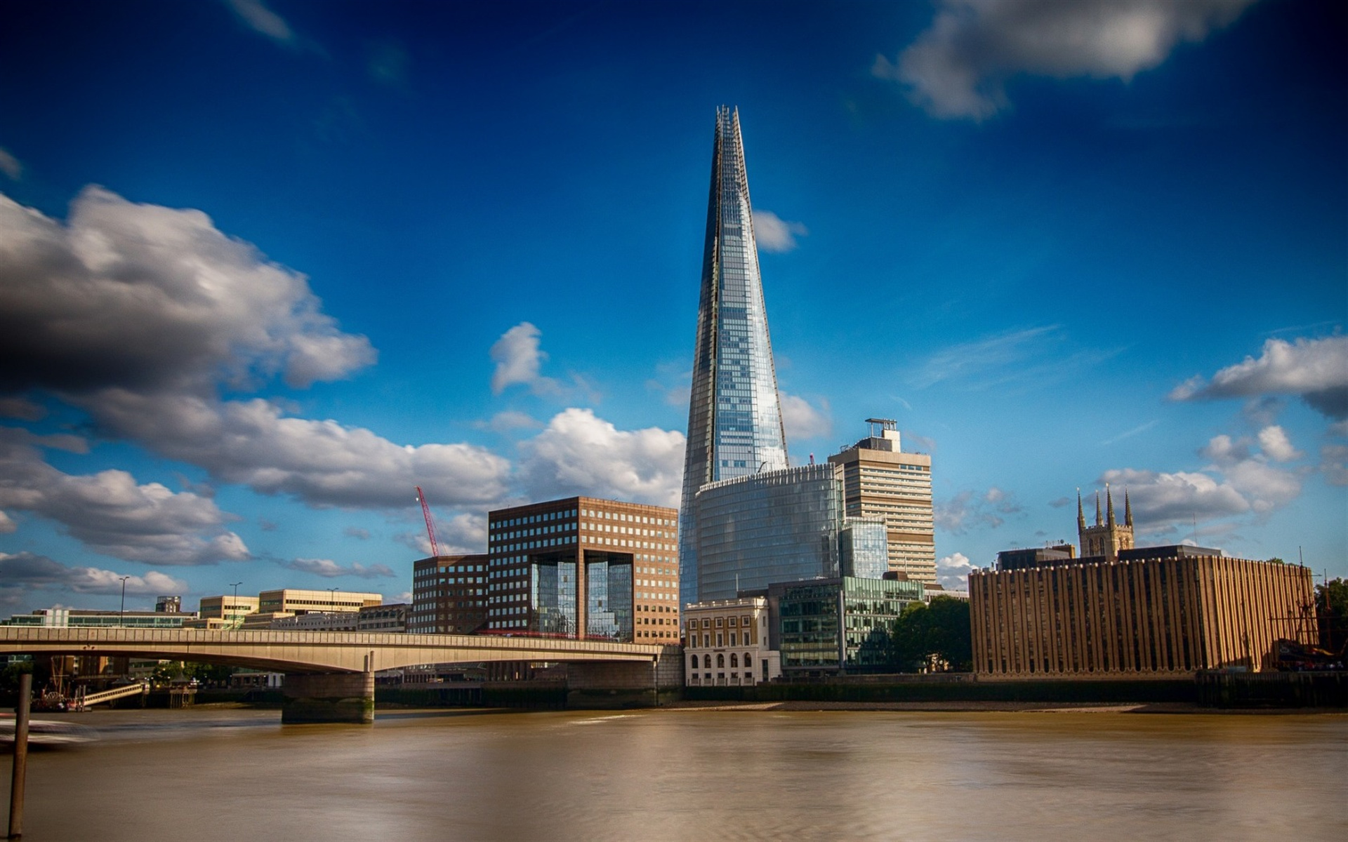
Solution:
<path fill-rule="evenodd" d="M 1259 358 L 1246 357 L 1212 380 L 1196 375 L 1171 389 L 1170 400 L 1264 395 L 1298 395 L 1328 418 L 1348 419 L 1348 335 L 1268 339 Z"/>

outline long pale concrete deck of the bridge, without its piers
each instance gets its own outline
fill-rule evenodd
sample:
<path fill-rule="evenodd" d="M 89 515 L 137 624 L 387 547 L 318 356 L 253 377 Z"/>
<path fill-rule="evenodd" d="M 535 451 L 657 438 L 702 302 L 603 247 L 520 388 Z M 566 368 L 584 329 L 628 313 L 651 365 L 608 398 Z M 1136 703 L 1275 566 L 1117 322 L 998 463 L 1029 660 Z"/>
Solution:
<path fill-rule="evenodd" d="M 667 657 L 662 645 L 551 637 L 49 626 L 0 626 L 0 655 L 152 657 L 299 674 L 503 660 L 651 664 Z"/>

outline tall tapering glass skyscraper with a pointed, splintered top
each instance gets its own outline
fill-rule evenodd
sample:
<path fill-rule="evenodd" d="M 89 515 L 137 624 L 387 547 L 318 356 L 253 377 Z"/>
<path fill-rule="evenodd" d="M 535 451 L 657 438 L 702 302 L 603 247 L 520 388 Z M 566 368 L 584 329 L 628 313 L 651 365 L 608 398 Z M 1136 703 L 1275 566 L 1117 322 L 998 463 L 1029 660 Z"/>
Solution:
<path fill-rule="evenodd" d="M 754 241 L 739 110 L 716 112 L 679 503 L 679 597 L 698 601 L 693 496 L 708 482 L 787 467 L 782 404 Z"/>

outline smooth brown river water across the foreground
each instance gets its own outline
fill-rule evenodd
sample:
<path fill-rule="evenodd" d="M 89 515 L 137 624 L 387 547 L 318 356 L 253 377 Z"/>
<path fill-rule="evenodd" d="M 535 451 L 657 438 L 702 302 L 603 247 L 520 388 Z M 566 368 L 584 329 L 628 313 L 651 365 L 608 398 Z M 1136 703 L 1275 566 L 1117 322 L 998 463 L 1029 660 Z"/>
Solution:
<path fill-rule="evenodd" d="M 26 842 L 1348 839 L 1345 715 L 61 718 L 98 741 L 30 756 Z"/>

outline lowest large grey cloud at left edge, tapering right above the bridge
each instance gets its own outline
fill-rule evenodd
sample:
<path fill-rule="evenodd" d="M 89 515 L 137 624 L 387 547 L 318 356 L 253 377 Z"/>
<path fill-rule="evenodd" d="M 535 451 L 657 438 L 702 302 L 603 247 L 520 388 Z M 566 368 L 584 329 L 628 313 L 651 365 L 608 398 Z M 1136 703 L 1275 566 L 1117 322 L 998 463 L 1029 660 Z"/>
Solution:
<path fill-rule="evenodd" d="M 39 447 L 70 447 L 66 438 L 73 436 L 0 427 L 0 509 L 54 520 L 89 548 L 132 562 L 214 564 L 251 558 L 243 539 L 224 528 L 231 516 L 209 497 L 159 482 L 137 484 L 124 470 L 57 470 Z"/>

